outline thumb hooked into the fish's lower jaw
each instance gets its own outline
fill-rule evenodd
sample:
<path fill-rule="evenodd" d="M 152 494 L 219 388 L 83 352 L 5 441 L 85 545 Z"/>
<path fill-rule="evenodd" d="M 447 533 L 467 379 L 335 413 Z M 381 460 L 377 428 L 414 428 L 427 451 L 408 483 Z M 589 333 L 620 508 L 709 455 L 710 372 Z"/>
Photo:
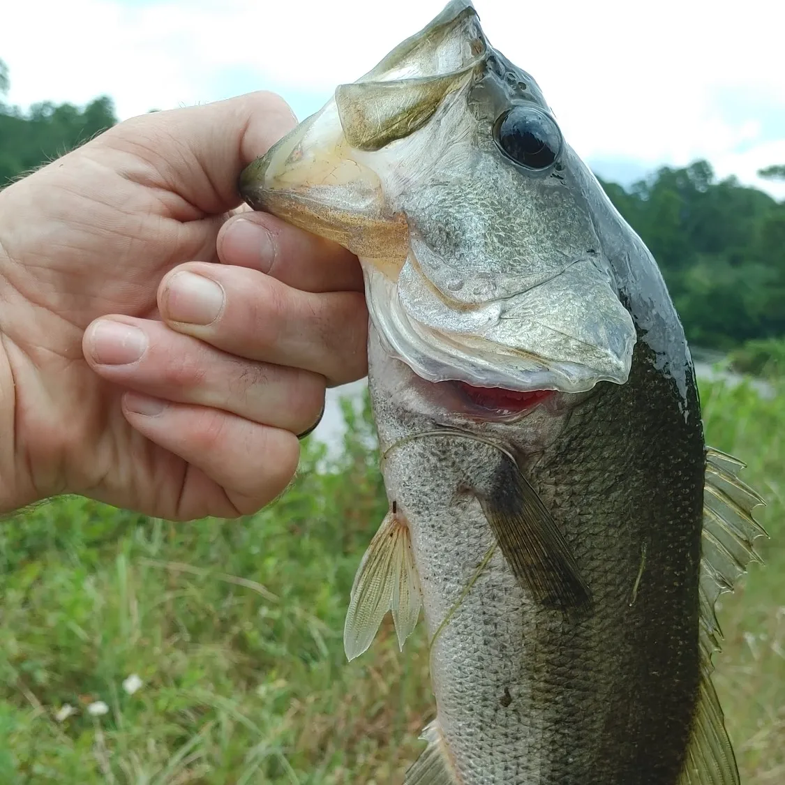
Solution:
<path fill-rule="evenodd" d="M 90 144 L 130 152 L 147 165 L 145 184 L 180 195 L 204 214 L 221 214 L 241 203 L 243 168 L 296 125 L 283 98 L 246 93 L 134 117 Z"/>

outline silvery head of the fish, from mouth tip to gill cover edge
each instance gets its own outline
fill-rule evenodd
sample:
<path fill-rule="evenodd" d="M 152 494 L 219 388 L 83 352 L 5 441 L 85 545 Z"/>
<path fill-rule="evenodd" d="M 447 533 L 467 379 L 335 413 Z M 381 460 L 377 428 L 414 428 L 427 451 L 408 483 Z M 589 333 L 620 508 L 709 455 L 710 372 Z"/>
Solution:
<path fill-rule="evenodd" d="M 626 382 L 636 334 L 571 166 L 539 87 L 455 0 L 239 189 L 360 257 L 382 345 L 423 379 L 582 392 Z"/>

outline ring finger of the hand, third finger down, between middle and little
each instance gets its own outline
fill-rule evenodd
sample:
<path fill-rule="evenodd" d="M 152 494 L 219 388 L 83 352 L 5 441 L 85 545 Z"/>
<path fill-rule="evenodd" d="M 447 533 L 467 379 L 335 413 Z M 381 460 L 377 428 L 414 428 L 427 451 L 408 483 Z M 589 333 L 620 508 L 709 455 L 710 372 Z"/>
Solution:
<path fill-rule="evenodd" d="M 83 346 L 93 370 L 116 385 L 222 409 L 292 433 L 311 428 L 324 405 L 323 376 L 244 360 L 161 322 L 97 319 L 85 331 Z"/>

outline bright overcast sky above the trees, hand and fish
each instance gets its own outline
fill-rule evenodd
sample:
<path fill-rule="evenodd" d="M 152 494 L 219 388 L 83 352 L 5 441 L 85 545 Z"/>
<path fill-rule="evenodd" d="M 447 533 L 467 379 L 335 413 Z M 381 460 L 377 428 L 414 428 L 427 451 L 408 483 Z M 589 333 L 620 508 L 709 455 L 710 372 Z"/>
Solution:
<path fill-rule="evenodd" d="M 316 111 L 442 0 L 36 0 L 2 10 L 8 100 L 151 108 L 272 89 Z M 785 163 L 785 2 L 475 0 L 491 43 L 539 82 L 570 144 L 607 177 L 707 158 L 766 187 Z"/>

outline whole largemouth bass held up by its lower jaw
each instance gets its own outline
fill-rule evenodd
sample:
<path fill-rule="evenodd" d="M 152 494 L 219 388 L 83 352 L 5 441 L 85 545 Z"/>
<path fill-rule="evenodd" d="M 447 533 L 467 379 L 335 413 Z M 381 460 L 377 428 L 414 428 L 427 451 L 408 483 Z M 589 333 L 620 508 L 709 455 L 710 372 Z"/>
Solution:
<path fill-rule="evenodd" d="M 590 82 L 587 82 L 587 88 Z M 708 449 L 659 269 L 455 0 L 243 173 L 360 257 L 389 514 L 349 658 L 422 608 L 409 785 L 732 785 L 714 603 L 761 498 Z"/>

